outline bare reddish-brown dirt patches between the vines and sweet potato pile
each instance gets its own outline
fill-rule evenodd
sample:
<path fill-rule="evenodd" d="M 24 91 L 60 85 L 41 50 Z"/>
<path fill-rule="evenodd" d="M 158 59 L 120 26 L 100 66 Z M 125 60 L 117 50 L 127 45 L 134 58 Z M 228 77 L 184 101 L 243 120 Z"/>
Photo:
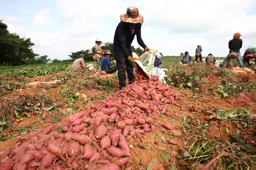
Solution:
<path fill-rule="evenodd" d="M 101 75 L 96 74 L 95 76 L 102 76 L 103 79 L 110 79 L 112 75 Z M 27 79 L 27 82 L 50 82 L 52 77 L 57 77 L 57 75 L 48 75 L 40 76 L 36 78 Z M 255 79 L 255 75 L 244 76 L 241 75 L 242 79 Z M 183 159 L 183 154 L 185 151 L 189 151 L 190 146 L 196 139 L 206 138 L 209 139 L 213 136 L 219 138 L 225 138 L 229 140 L 229 135 L 223 131 L 220 131 L 220 127 L 217 119 L 210 119 L 213 116 L 213 113 L 207 112 L 214 109 L 229 109 L 234 107 L 252 107 L 255 105 L 255 99 L 251 99 L 248 96 L 248 93 L 241 93 L 232 96 L 227 99 L 218 99 L 219 96 L 217 93 L 212 92 L 212 89 L 216 88 L 218 82 L 220 81 L 218 76 L 209 76 L 205 78 L 205 84 L 202 86 L 206 91 L 204 92 L 192 92 L 184 88 L 172 88 L 174 91 L 177 91 L 180 94 L 181 99 L 177 100 L 177 103 L 181 107 L 173 106 L 168 104 L 167 108 L 170 110 L 171 116 L 165 116 L 158 112 L 158 119 L 155 120 L 155 124 L 159 125 L 160 123 L 170 124 L 172 130 L 165 130 L 161 126 L 156 126 L 154 132 L 146 133 L 145 135 L 138 134 L 131 138 L 128 136 L 126 141 L 129 142 L 129 147 L 131 151 L 131 157 L 128 163 L 125 166 L 120 167 L 120 169 L 125 169 L 129 167 L 132 170 L 144 170 L 150 167 L 151 170 L 169 170 L 171 165 L 174 162 L 181 161 Z M 57 95 L 59 87 L 62 87 L 63 84 L 58 84 L 58 88 L 47 88 L 49 84 L 46 83 L 35 83 L 34 86 L 30 88 L 23 88 L 14 91 L 12 94 L 8 94 L 8 99 L 15 98 L 17 95 L 33 95 L 37 90 L 44 89 L 54 103 L 57 103 L 56 115 L 61 111 L 66 111 L 69 113 L 83 111 L 88 103 L 84 102 L 84 98 L 80 93 L 80 100 L 76 100 L 73 107 L 67 108 L 68 103 L 65 98 L 60 99 Z M 118 82 L 114 85 L 118 87 Z M 111 94 L 106 91 L 100 90 L 84 90 L 83 94 L 87 98 L 94 98 L 95 96 L 109 96 Z M 240 99 L 240 100 L 238 100 Z M 238 102 L 239 101 L 239 102 Z M 182 110 L 183 108 L 183 110 Z M 49 112 L 50 113 L 50 112 Z M 25 127 L 28 130 L 31 130 L 32 127 L 41 128 L 45 127 L 47 124 L 51 123 L 52 115 L 44 114 L 39 115 L 36 112 L 29 112 L 31 117 L 27 118 L 24 116 L 18 122 L 12 122 L 12 129 L 5 129 L 4 134 L 19 134 L 18 128 Z M 38 119 L 38 118 L 42 119 Z M 62 118 L 63 121 L 67 116 L 59 115 L 59 118 Z M 223 126 L 232 129 L 230 122 L 222 122 Z M 197 128 L 199 126 L 204 126 L 205 128 Z M 239 125 L 237 125 L 239 128 Z M 27 132 L 29 133 L 29 131 Z M 27 134 L 26 133 L 26 134 Z M 12 139 L 5 140 L 0 143 L 0 151 L 4 150 L 6 147 L 14 147 L 15 144 L 20 141 L 20 137 L 26 135 L 15 136 Z M 157 139 L 155 135 L 158 135 Z M 144 143 L 140 139 L 144 139 Z M 173 139 L 178 142 L 178 145 L 168 144 L 167 141 L 163 139 Z M 191 153 L 190 153 L 191 154 Z M 168 155 L 170 157 L 169 161 L 165 161 L 161 155 Z M 177 169 L 190 169 L 189 161 L 181 161 L 177 163 Z"/>

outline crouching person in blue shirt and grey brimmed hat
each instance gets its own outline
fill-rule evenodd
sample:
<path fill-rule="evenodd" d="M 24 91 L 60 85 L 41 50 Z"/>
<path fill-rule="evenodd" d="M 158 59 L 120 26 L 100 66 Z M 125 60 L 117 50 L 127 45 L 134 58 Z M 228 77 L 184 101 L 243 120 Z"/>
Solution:
<path fill-rule="evenodd" d="M 110 63 L 110 60 L 114 60 L 113 57 L 109 59 L 111 55 L 112 53 L 110 52 L 110 50 L 106 50 L 104 56 L 101 59 L 101 71 L 105 71 L 108 74 L 112 74 L 113 72 L 117 71 L 117 66 L 113 66 L 116 63 L 116 61 Z"/>

